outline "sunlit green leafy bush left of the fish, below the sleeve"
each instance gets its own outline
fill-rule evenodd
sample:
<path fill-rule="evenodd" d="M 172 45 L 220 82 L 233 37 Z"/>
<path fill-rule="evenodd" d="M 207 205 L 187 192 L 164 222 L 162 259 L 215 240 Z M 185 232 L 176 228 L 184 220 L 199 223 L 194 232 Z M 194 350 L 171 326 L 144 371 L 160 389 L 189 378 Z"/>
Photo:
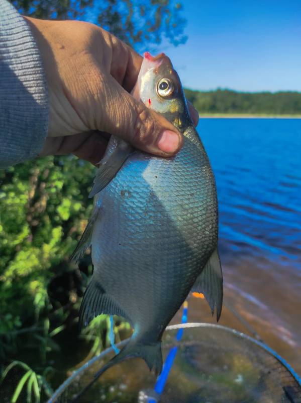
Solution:
<path fill-rule="evenodd" d="M 63 301 L 52 283 L 76 271 L 68 259 L 91 211 L 93 173 L 75 157 L 47 157 L 0 172 L 1 362 L 34 349 L 32 364 L 43 371 L 46 355 L 59 349 L 54 338 L 72 306 L 78 309 L 86 281 L 79 277 L 77 289 L 63 290 Z M 32 374 L 22 379 L 35 384 Z"/>

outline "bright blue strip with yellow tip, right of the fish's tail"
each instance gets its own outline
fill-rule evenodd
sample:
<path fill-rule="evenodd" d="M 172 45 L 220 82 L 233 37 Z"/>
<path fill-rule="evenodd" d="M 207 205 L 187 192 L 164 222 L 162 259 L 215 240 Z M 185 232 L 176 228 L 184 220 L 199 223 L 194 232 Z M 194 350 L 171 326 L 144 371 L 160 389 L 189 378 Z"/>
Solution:
<path fill-rule="evenodd" d="M 183 314 L 182 314 L 182 323 L 187 323 L 187 312 L 188 312 L 188 303 L 184 302 Z M 179 329 L 176 334 L 176 341 L 179 342 L 182 339 L 184 329 Z M 161 394 L 164 390 L 169 372 L 171 370 L 173 361 L 175 359 L 176 353 L 178 351 L 178 346 L 172 347 L 166 357 L 166 360 L 163 365 L 163 369 L 161 374 L 158 376 L 154 390 L 157 394 Z M 157 403 L 157 400 L 154 398 L 149 398 L 147 403 Z"/>

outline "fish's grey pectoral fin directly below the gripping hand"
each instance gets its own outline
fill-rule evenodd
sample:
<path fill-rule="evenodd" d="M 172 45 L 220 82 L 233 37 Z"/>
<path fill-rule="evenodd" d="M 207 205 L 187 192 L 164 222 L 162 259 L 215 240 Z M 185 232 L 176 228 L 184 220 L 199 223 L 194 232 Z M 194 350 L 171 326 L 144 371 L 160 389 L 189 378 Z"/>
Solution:
<path fill-rule="evenodd" d="M 120 170 L 131 151 L 132 146 L 121 139 L 111 136 L 106 154 L 99 162 L 89 197 L 95 196 L 104 189 Z"/>

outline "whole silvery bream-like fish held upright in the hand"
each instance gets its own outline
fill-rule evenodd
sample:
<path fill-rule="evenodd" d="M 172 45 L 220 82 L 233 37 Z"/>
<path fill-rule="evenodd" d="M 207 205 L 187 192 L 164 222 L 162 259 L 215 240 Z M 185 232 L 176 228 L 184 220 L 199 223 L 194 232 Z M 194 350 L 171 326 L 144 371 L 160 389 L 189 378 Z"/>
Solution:
<path fill-rule="evenodd" d="M 90 193 L 93 212 L 72 255 L 77 261 L 91 245 L 94 268 L 79 322 L 119 315 L 133 334 L 97 377 L 131 357 L 160 374 L 162 334 L 190 291 L 205 295 L 217 320 L 222 310 L 215 177 L 164 53 L 144 54 L 132 95 L 172 122 L 183 146 L 163 158 L 111 136 L 99 163 Z"/>

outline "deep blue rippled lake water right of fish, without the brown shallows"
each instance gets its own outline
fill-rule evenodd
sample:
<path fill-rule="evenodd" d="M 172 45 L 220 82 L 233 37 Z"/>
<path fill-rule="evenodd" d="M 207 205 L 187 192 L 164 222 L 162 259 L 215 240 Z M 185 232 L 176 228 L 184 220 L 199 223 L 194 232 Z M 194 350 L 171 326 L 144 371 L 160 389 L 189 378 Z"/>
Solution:
<path fill-rule="evenodd" d="M 300 270 L 301 120 L 203 119 L 225 253 L 264 256 Z"/>

